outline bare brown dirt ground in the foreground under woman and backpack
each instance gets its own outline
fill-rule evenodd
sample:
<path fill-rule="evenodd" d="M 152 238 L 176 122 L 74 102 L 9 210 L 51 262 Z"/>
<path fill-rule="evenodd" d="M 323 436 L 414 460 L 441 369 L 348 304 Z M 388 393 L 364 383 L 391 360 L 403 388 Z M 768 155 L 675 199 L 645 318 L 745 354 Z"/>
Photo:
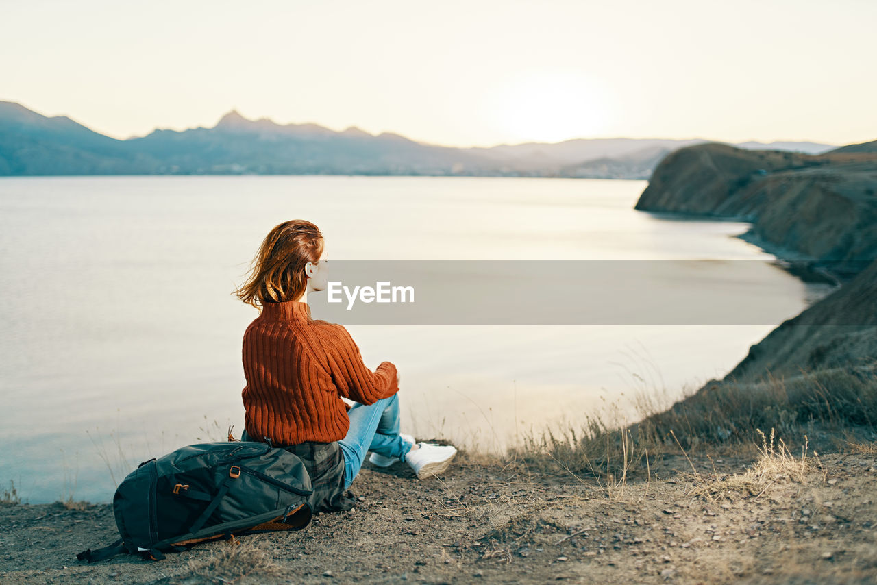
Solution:
<path fill-rule="evenodd" d="M 799 476 L 753 460 L 667 457 L 622 491 L 460 453 L 439 478 L 363 467 L 359 504 L 303 531 L 149 562 L 88 565 L 118 538 L 111 506 L 0 508 L 4 583 L 877 582 L 877 455 L 834 453 Z M 694 469 L 692 468 L 692 464 Z"/>

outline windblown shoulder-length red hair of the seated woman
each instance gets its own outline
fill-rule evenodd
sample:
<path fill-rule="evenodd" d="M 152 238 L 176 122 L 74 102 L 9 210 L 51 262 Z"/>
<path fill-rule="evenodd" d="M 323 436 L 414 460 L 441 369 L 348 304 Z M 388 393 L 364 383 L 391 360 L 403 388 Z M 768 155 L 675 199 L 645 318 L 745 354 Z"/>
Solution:
<path fill-rule="evenodd" d="M 297 301 L 307 287 L 304 267 L 323 255 L 323 234 L 304 219 L 291 219 L 268 232 L 251 263 L 246 282 L 235 290 L 244 303 L 261 311 L 264 303 Z"/>

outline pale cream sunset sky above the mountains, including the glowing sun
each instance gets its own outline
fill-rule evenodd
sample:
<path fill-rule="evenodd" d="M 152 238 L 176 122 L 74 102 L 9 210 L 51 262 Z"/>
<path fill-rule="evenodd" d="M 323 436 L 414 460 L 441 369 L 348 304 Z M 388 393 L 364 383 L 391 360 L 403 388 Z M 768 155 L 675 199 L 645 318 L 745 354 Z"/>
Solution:
<path fill-rule="evenodd" d="M 0 100 L 118 139 L 877 139 L 873 0 L 2 0 Z"/>

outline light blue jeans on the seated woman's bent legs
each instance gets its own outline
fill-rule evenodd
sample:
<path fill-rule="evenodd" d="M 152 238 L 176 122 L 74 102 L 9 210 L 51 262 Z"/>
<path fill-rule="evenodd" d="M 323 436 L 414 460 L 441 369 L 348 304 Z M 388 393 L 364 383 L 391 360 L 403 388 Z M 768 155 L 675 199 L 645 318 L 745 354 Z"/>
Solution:
<path fill-rule="evenodd" d="M 344 453 L 344 489 L 348 489 L 360 473 L 367 452 L 404 460 L 411 448 L 411 444 L 399 436 L 398 393 L 374 404 L 354 403 L 347 416 L 350 429 L 346 437 L 339 440 L 341 453 Z"/>

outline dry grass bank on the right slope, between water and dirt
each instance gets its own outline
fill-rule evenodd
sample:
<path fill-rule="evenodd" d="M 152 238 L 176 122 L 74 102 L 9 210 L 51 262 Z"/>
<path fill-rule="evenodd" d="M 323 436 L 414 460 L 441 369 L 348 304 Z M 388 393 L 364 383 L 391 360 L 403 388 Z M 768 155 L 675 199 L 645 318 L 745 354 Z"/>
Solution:
<path fill-rule="evenodd" d="M 845 433 L 877 436 L 877 372 L 870 367 L 833 368 L 789 379 L 712 382 L 669 407 L 660 401 L 660 393 L 641 390 L 637 405 L 641 419 L 635 424 L 628 424 L 618 410 L 584 416 L 579 428 L 525 435 L 508 458 L 536 473 L 572 475 L 612 498 L 624 496 L 632 477 L 649 481 L 654 458 L 667 454 L 752 453 L 765 465 L 779 464 L 793 447 L 774 446 L 773 439 L 768 444 L 764 438 L 753 449 L 753 430 L 770 428 L 785 437 L 804 437 L 805 454 L 814 437 L 824 449 L 828 443 L 837 446 L 837 437 Z"/>

